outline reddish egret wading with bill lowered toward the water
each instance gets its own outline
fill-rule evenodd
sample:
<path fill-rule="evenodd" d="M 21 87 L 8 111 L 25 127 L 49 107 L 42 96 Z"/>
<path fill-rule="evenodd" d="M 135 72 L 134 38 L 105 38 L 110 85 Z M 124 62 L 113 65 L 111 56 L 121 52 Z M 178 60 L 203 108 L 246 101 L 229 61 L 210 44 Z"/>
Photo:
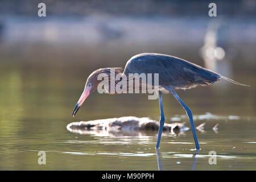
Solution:
<path fill-rule="evenodd" d="M 97 80 L 97 76 L 100 73 L 106 73 L 110 76 L 110 68 L 97 69 L 88 77 L 84 92 L 77 102 L 75 109 L 73 110 L 73 116 L 77 113 L 86 97 L 97 88 L 97 85 L 101 82 Z M 120 69 L 115 69 L 115 74 L 121 73 Z M 163 111 L 163 99 L 162 93 L 171 93 L 177 101 L 185 109 L 189 122 L 191 125 L 193 138 L 195 140 L 196 149 L 199 150 L 199 143 L 196 137 L 195 126 L 193 123 L 192 112 L 187 105 L 176 94 L 175 89 L 190 89 L 197 85 L 210 85 L 213 82 L 219 81 L 224 78 L 233 84 L 243 85 L 239 82 L 226 78 L 218 73 L 214 73 L 208 69 L 200 67 L 199 65 L 190 63 L 189 61 L 180 59 L 178 57 L 163 55 L 159 53 L 141 53 L 131 57 L 127 61 L 125 69 L 122 74 L 128 76 L 129 73 L 158 73 L 159 74 L 159 106 L 160 106 L 160 125 L 158 130 L 158 139 L 156 142 L 156 148 L 159 148 L 160 139 L 164 126 L 164 111 Z M 120 80 L 115 80 L 115 83 Z M 248 86 L 248 85 L 245 85 Z"/>

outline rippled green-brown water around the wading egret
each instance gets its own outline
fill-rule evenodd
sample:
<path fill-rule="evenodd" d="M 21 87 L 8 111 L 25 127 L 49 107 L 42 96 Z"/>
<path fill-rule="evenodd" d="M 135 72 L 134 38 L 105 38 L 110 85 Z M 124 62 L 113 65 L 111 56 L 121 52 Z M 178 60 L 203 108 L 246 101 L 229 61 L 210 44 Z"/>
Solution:
<path fill-rule="evenodd" d="M 109 64 L 102 61 L 102 67 L 124 66 L 129 58 L 113 57 L 120 61 Z M 100 63 L 93 64 L 88 62 L 90 58 L 85 58 L 84 62 L 66 64 L 58 56 L 40 64 L 31 57 L 22 59 L 31 61 L 23 63 L 19 57 L 2 57 L 0 169 L 158 170 L 156 131 L 112 136 L 80 135 L 66 129 L 74 121 L 129 115 L 157 120 L 158 100 L 147 100 L 146 94 L 113 96 L 94 92 L 72 118 L 86 77 L 93 69 L 100 68 Z M 214 84 L 177 92 L 191 108 L 195 125 L 207 122 L 204 133 L 197 131 L 202 149 L 197 155 L 196 170 L 256 169 L 255 73 L 234 73 L 232 78 L 251 87 L 227 83 L 224 87 Z M 171 95 L 163 96 L 163 104 L 166 122 L 171 123 L 175 117 L 189 127 L 185 111 Z M 207 112 L 216 117 L 205 118 Z M 218 133 L 212 130 L 216 123 Z M 191 170 L 195 163 L 194 148 L 191 130 L 176 137 L 163 135 L 159 149 L 163 169 Z M 39 151 L 46 151 L 46 165 L 38 164 Z M 209 151 L 216 152 L 216 165 L 208 163 Z"/>

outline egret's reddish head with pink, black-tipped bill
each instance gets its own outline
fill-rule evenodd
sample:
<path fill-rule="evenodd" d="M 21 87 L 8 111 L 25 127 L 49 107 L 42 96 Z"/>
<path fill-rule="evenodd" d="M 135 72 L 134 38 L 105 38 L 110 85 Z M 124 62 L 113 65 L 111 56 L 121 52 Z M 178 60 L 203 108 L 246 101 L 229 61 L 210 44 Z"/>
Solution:
<path fill-rule="evenodd" d="M 120 73 L 121 68 L 114 68 L 114 71 L 115 74 Z M 75 116 L 85 99 L 89 96 L 89 94 L 92 93 L 97 88 L 98 84 L 100 84 L 100 82 L 102 81 L 98 80 L 98 75 L 102 73 L 105 74 L 106 77 L 109 77 L 110 72 L 110 68 L 100 68 L 90 74 L 90 76 L 87 78 L 84 91 L 82 92 L 81 97 L 79 98 L 79 101 L 77 102 L 75 109 L 73 110 L 73 117 Z"/>

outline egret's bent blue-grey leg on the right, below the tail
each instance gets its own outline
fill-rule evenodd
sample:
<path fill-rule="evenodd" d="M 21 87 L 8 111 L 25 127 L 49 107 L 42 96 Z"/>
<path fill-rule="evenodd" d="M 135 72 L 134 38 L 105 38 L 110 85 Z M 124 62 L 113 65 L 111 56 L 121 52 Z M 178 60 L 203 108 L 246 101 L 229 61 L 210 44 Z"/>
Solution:
<path fill-rule="evenodd" d="M 189 118 L 189 122 L 190 122 L 190 125 L 191 125 L 191 129 L 192 129 L 192 133 L 193 133 L 193 137 L 194 137 L 195 144 L 196 144 L 196 149 L 199 150 L 200 147 L 199 147 L 199 143 L 198 143 L 198 140 L 197 140 L 197 137 L 196 137 L 196 130 L 195 130 L 194 122 L 193 122 L 192 112 L 191 112 L 191 110 L 188 108 L 188 106 L 185 105 L 185 103 L 180 99 L 180 97 L 176 94 L 176 92 L 174 92 L 174 90 L 173 90 L 172 94 L 174 95 L 174 97 L 176 98 L 176 100 L 180 102 L 180 104 L 183 106 L 183 108 L 184 108 L 184 109 L 186 110 L 186 112 L 187 112 L 187 115 L 188 115 L 188 118 Z"/>

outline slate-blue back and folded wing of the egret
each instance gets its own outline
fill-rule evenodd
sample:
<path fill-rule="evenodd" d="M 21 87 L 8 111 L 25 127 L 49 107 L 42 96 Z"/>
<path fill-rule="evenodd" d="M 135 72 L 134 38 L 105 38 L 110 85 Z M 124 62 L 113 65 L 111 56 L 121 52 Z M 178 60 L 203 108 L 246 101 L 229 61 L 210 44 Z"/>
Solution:
<path fill-rule="evenodd" d="M 178 57 L 141 53 L 127 61 L 124 73 L 159 73 L 159 85 L 175 89 L 193 88 L 219 81 L 221 75 Z"/>

